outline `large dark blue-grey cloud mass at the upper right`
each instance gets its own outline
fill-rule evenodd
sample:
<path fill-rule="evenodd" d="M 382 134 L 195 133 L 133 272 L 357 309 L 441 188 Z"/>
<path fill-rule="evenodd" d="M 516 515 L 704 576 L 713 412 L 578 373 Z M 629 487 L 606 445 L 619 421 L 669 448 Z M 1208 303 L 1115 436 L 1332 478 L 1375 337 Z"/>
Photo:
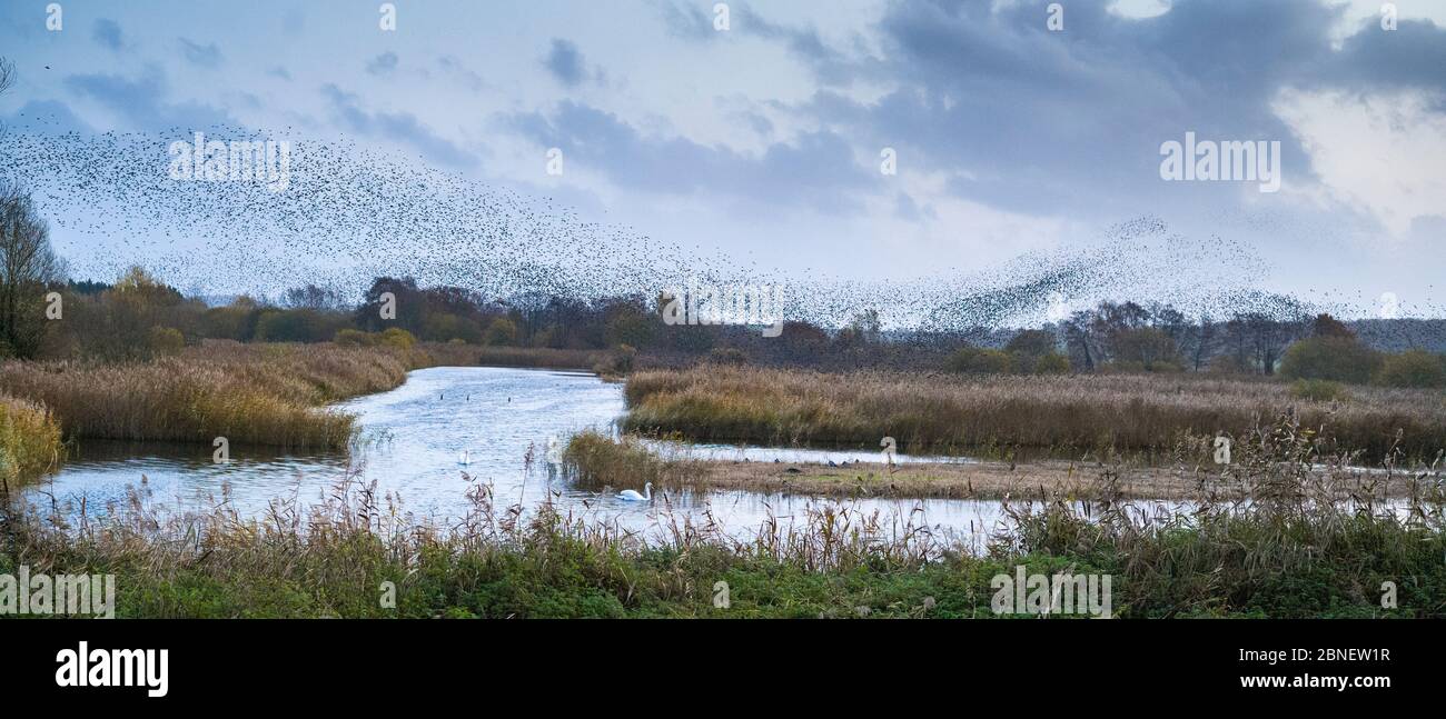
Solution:
<path fill-rule="evenodd" d="M 1290 182 L 1309 154 L 1271 103 L 1320 82 L 1336 10 L 1316 0 L 1177 0 L 1150 19 L 1071 3 L 1064 32 L 1044 0 L 897 3 L 878 23 L 881 58 L 842 52 L 811 30 L 756 19 L 755 33 L 829 78 L 885 79 L 876 101 L 818 91 L 795 108 L 860 146 L 897 146 L 902 172 L 953 178 L 950 191 L 1034 215 L 1134 214 L 1236 202 L 1231 183 L 1164 183 L 1163 141 L 1280 140 Z"/>

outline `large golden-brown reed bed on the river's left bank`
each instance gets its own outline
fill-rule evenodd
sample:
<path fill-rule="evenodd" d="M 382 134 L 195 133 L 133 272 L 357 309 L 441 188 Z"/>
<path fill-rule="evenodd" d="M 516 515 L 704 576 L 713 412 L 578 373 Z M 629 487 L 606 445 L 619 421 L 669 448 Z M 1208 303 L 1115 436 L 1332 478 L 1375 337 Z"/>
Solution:
<path fill-rule="evenodd" d="M 0 364 L 0 391 L 43 404 L 69 437 L 343 449 L 354 417 L 324 403 L 393 388 L 411 352 L 207 342 L 149 362 Z"/>

